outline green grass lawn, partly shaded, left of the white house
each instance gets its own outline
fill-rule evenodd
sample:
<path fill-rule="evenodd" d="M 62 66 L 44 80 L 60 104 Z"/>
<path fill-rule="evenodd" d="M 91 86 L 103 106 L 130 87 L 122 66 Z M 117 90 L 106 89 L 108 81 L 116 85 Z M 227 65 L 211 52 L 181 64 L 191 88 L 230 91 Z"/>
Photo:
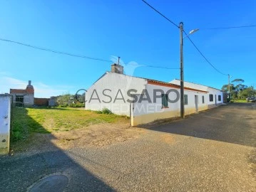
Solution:
<path fill-rule="evenodd" d="M 127 121 L 128 118 L 116 114 L 99 114 L 83 108 L 71 107 L 14 107 L 12 112 L 12 142 L 26 139 L 33 132 L 63 132 L 85 128 L 91 124 Z"/>

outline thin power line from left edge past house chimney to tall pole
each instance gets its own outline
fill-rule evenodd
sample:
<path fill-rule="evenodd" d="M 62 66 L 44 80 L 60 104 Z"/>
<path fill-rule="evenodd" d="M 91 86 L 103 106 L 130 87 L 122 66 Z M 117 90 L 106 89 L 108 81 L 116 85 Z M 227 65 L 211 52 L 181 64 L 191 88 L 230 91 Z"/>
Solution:
<path fill-rule="evenodd" d="M 4 39 L 4 38 L 0 38 L 0 41 L 6 41 L 8 43 L 16 43 L 16 44 L 19 44 L 21 46 L 26 46 L 26 47 L 29 47 L 29 48 L 35 48 L 35 49 L 38 49 L 38 50 L 45 50 L 45 51 L 49 51 L 49 52 L 52 52 L 52 53 L 58 53 L 58 54 L 62 54 L 62 55 L 68 55 L 68 56 L 72 56 L 72 57 L 76 57 L 76 58 L 86 58 L 86 59 L 100 60 L 100 61 L 111 63 L 111 60 L 104 60 L 104 59 L 101 59 L 101 58 L 92 58 L 92 57 L 88 57 L 88 56 L 84 56 L 84 55 L 76 55 L 76 54 L 72 54 L 72 53 L 65 53 L 65 52 L 61 52 L 61 51 L 58 51 L 58 50 L 51 50 L 49 48 L 40 48 L 38 46 L 32 46 L 32 45 L 29 45 L 29 44 L 26 44 L 26 43 L 21 43 L 21 42 L 18 42 L 18 41 L 11 41 L 11 40 Z M 143 66 L 147 67 L 147 68 L 162 68 L 162 69 L 168 69 L 168 70 L 179 69 L 179 68 L 166 68 L 166 67 L 160 67 L 160 66 L 155 66 L 155 65 L 143 65 Z"/>

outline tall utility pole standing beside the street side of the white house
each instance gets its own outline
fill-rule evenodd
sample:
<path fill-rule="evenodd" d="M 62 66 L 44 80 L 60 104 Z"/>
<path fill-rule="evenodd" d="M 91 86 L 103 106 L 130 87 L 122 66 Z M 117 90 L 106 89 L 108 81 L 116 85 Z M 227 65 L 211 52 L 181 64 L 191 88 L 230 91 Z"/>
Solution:
<path fill-rule="evenodd" d="M 184 114 L 184 79 L 183 79 L 183 22 L 180 22 L 180 117 Z"/>

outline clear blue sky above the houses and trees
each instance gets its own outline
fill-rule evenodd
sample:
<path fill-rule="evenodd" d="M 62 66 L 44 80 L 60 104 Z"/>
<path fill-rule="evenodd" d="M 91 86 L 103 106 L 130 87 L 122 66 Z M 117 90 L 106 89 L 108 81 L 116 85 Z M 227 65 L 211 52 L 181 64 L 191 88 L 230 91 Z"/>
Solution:
<path fill-rule="evenodd" d="M 190 38 L 213 65 L 232 79 L 256 85 L 256 28 L 205 28 L 256 24 L 256 1 L 148 0 L 175 23 L 183 21 Z M 179 29 L 143 1 L 0 1 L 0 38 L 53 50 L 125 63 L 179 68 Z M 36 97 L 88 89 L 111 61 L 58 55 L 0 41 L 0 92 L 25 88 L 32 80 Z M 169 82 L 179 70 L 136 68 L 135 76 Z M 221 88 L 227 76 L 217 73 L 193 45 L 184 40 L 184 77 Z"/>

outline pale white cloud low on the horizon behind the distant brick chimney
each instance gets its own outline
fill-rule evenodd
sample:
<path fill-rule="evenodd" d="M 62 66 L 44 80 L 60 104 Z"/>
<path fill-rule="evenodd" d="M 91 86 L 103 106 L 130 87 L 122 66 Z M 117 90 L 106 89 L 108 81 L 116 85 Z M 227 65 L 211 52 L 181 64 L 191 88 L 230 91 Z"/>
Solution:
<path fill-rule="evenodd" d="M 9 93 L 10 89 L 26 89 L 28 81 L 18 80 L 10 77 L 0 78 L 0 93 Z M 60 85 L 51 86 L 46 85 L 43 82 L 32 82 L 35 90 L 35 97 L 51 97 L 56 95 L 62 95 L 63 92 L 68 92 L 70 86 Z"/>

